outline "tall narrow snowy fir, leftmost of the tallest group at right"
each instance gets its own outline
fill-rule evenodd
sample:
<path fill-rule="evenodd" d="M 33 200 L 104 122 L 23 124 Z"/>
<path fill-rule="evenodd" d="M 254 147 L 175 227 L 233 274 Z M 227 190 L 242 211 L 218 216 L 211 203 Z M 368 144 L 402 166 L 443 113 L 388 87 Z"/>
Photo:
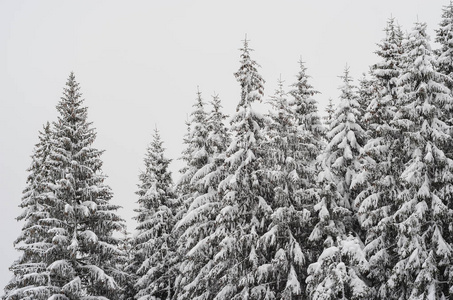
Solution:
<path fill-rule="evenodd" d="M 365 113 L 369 140 L 363 147 L 361 182 L 363 190 L 356 198 L 358 217 L 366 231 L 365 252 L 370 262 L 371 280 L 376 295 L 385 298 L 385 283 L 392 268 L 395 231 L 391 216 L 400 190 L 402 143 L 392 120 L 399 105 L 397 79 L 401 72 L 402 33 L 393 18 L 385 28 L 385 38 L 378 44 L 380 61 L 372 66 L 376 89 Z"/>

